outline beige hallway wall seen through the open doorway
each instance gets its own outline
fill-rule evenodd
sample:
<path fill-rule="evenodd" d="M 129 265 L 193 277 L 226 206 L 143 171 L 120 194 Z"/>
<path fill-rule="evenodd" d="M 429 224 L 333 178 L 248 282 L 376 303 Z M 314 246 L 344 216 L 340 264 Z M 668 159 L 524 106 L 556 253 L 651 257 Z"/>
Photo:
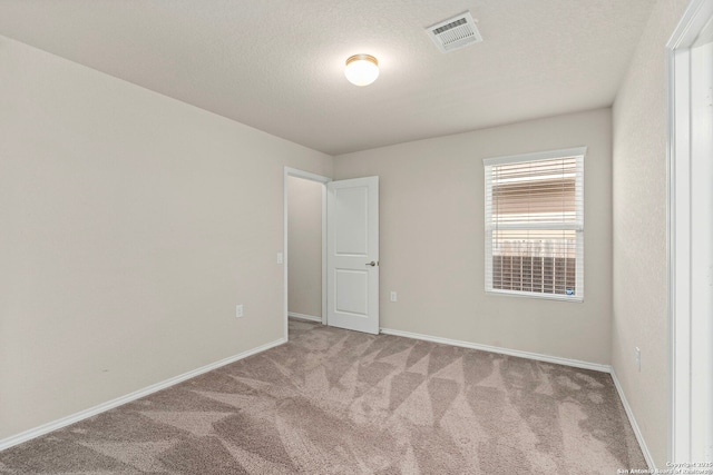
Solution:
<path fill-rule="evenodd" d="M 287 179 L 287 308 L 322 317 L 322 188 L 318 181 Z"/>

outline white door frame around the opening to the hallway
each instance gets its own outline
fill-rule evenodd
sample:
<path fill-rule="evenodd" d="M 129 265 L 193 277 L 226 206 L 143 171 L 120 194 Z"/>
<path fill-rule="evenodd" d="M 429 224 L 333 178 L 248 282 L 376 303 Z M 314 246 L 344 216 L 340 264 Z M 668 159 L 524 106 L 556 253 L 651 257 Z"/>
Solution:
<path fill-rule="evenodd" d="M 326 184 L 332 181 L 331 178 L 322 175 L 312 174 L 310 171 L 300 170 L 296 168 L 284 167 L 282 194 L 283 194 L 283 237 L 282 237 L 282 255 L 283 255 L 283 338 L 287 340 L 287 314 L 290 311 L 289 296 L 290 296 L 290 283 L 287 276 L 287 264 L 290 261 L 290 255 L 287 253 L 289 247 L 289 218 L 290 218 L 290 199 L 289 199 L 289 178 L 302 178 L 310 181 L 316 181 L 322 184 L 322 325 L 326 325 Z"/>

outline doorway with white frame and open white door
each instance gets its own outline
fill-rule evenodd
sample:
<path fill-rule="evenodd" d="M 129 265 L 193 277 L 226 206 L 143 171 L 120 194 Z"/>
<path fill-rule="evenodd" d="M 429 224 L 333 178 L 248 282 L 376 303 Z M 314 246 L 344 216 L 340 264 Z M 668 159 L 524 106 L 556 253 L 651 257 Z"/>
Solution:
<path fill-rule="evenodd" d="M 379 177 L 283 184 L 283 337 L 290 316 L 379 334 Z"/>

